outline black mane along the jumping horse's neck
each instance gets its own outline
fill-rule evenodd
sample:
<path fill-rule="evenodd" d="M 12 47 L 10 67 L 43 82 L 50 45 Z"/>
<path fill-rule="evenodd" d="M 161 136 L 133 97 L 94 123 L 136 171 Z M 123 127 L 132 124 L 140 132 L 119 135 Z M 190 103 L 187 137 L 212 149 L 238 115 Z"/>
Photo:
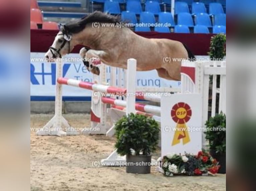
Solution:
<path fill-rule="evenodd" d="M 86 15 L 80 20 L 72 21 L 64 25 L 63 33 L 79 33 L 84 30 L 88 23 L 119 23 L 121 22 L 120 16 L 113 16 L 100 11 L 95 11 Z"/>

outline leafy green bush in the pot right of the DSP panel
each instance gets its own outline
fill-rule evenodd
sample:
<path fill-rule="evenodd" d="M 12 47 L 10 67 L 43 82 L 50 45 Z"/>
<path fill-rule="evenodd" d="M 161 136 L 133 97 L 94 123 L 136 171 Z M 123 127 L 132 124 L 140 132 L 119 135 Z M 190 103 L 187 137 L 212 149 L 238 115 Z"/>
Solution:
<path fill-rule="evenodd" d="M 222 112 L 206 121 L 206 139 L 209 140 L 210 149 L 216 153 L 226 153 L 226 115 Z M 223 130 L 223 128 L 225 130 Z"/>

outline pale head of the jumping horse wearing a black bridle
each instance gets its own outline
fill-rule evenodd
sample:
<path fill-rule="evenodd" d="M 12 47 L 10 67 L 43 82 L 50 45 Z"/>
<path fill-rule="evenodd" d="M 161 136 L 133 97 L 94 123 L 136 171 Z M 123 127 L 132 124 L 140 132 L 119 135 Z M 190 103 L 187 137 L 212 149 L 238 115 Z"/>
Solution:
<path fill-rule="evenodd" d="M 64 25 L 45 54 L 46 61 L 50 62 L 69 54 L 76 45 L 76 41 L 72 37 L 72 34 L 69 33 L 69 30 Z"/>

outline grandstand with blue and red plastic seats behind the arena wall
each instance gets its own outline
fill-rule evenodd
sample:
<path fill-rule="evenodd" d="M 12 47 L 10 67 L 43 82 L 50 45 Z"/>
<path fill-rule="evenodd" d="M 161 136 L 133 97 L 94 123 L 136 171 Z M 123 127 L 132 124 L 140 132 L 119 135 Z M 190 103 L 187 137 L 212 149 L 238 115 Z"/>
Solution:
<path fill-rule="evenodd" d="M 170 24 L 169 26 L 175 26 L 174 32 L 193 32 L 194 33 L 209 33 L 214 31 L 217 33 L 220 30 L 226 31 L 226 14 L 225 14 L 225 0 L 175 0 L 175 16 L 169 12 L 161 12 L 166 10 L 166 5 L 170 5 L 171 0 L 89 0 L 91 3 L 95 3 L 94 10 L 102 10 L 113 15 L 121 15 L 122 21 L 130 22 L 133 24 L 138 23 L 158 23 Z M 100 3 L 100 4 L 97 4 Z M 43 10 L 43 14 L 41 10 Z M 66 1 L 66 0 L 53 0 L 53 1 L 36 1 L 30 2 L 30 27 L 36 28 L 33 22 L 37 24 L 37 28 L 42 29 L 57 29 L 57 23 L 68 22 L 71 18 L 84 17 L 88 11 L 84 9 L 83 3 L 79 1 Z M 51 8 L 53 9 L 51 9 Z M 55 7 L 55 9 L 54 9 Z M 63 11 L 57 9 L 63 7 Z M 163 9 L 164 7 L 164 9 Z M 86 11 L 82 11 L 82 10 Z M 76 11 L 78 10 L 78 11 Z M 52 24 L 43 24 L 43 17 L 46 21 L 55 21 Z M 65 19 L 67 18 L 67 19 Z M 181 26 L 180 26 L 181 25 Z M 196 25 L 196 26 L 195 26 Z M 210 29 L 206 29 L 210 27 Z M 219 27 L 221 26 L 221 27 Z M 187 27 L 188 31 L 187 31 Z M 168 27 L 167 27 L 168 28 Z M 170 28 L 155 27 L 157 32 L 170 32 Z M 153 28 L 149 28 L 153 30 Z M 136 27 L 138 31 L 148 31 L 147 27 Z M 171 29 L 172 32 L 172 29 Z"/>

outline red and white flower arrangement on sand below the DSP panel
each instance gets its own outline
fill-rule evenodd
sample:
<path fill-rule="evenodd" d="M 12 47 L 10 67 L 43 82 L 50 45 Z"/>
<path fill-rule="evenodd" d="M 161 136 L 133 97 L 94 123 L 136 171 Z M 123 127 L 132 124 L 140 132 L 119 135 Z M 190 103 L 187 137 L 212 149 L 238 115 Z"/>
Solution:
<path fill-rule="evenodd" d="M 165 176 L 173 175 L 204 175 L 208 172 L 216 174 L 219 165 L 205 150 L 199 151 L 197 155 L 185 153 L 184 155 L 168 154 L 162 159 L 162 169 Z"/>

